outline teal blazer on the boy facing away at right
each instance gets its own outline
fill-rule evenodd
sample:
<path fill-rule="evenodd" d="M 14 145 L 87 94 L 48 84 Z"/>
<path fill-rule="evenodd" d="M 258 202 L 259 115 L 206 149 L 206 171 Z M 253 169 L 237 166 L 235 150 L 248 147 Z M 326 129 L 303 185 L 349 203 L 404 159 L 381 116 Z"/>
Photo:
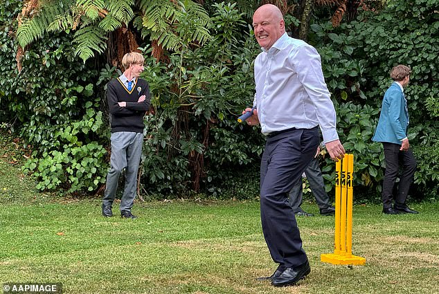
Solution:
<path fill-rule="evenodd" d="M 401 145 L 401 140 L 407 136 L 407 125 L 409 125 L 407 102 L 400 86 L 394 82 L 384 94 L 381 114 L 372 140 Z"/>

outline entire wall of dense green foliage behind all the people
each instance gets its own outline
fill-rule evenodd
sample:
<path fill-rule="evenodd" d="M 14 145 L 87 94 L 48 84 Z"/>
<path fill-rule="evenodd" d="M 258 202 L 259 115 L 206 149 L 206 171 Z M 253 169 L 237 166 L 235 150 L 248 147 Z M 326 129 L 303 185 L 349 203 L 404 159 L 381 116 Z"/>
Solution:
<path fill-rule="evenodd" d="M 172 26 L 163 24 L 163 28 L 172 29 L 177 37 L 166 38 L 188 42 L 168 48 L 172 50 L 162 48 L 159 59 L 152 57 L 157 47 L 150 38 L 160 22 L 157 18 L 155 23 L 148 22 L 145 8 L 134 17 L 131 29 L 138 30 L 143 40 L 143 77 L 150 82 L 154 107 L 145 116 L 142 192 L 178 196 L 194 191 L 238 199 L 258 196 L 258 166 L 265 139 L 260 129 L 236 122 L 238 113 L 253 100 L 252 62 L 259 48 L 247 17 L 256 2 L 206 1 L 206 30 L 200 30 L 203 40 L 208 40 L 204 44 L 194 41 L 192 12 L 173 12 Z M 109 129 L 102 87 L 120 71 L 98 58 L 84 64 L 71 44 L 74 36 L 65 30 L 43 34 L 26 48 L 19 72 L 14 32 L 20 6 L 21 1 L 12 0 L 0 7 L 0 102 L 5 106 L 0 110 L 1 127 L 15 127 L 33 146 L 33 158 L 26 167 L 39 179 L 41 190 L 62 187 L 70 192 L 95 192 L 105 182 L 108 167 Z M 436 9 L 431 0 L 393 0 L 379 12 L 359 10 L 356 19 L 334 28 L 328 21 L 332 12 L 314 8 L 307 39 L 321 53 L 341 141 L 355 154 L 357 199 L 379 199 L 384 154 L 382 145 L 371 138 L 382 96 L 391 84 L 388 72 L 396 64 L 408 64 L 413 71 L 406 89 L 409 139 L 418 160 L 411 194 L 423 199 L 438 197 Z M 196 12 L 204 15 L 199 6 Z M 296 17 L 286 19 L 296 21 Z M 99 73 L 96 68 L 100 67 Z M 328 156 L 321 161 L 329 192 L 334 163 Z"/>

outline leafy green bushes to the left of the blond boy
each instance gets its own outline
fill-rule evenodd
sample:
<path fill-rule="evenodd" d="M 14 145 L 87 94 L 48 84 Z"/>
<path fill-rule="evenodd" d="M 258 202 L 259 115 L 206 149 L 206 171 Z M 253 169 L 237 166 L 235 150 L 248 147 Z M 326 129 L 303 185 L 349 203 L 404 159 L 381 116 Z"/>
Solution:
<path fill-rule="evenodd" d="M 94 191 L 105 183 L 107 151 L 100 97 L 93 91 L 98 75 L 75 57 L 69 35 L 46 36 L 21 57 L 12 39 L 21 1 L 6 1 L 1 25 L 1 95 L 3 122 L 19 126 L 33 148 L 26 171 L 39 178 L 40 190 Z M 3 107 L 2 107 L 3 109 Z"/>

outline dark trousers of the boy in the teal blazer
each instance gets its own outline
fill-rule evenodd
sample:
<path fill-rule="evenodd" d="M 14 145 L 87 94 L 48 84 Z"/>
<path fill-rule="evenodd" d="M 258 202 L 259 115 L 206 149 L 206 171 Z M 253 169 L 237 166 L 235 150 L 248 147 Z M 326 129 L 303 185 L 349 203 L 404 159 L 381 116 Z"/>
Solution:
<path fill-rule="evenodd" d="M 400 177 L 400 184 L 398 185 L 398 193 L 395 196 L 395 203 L 405 204 L 407 194 L 410 190 L 411 182 L 413 181 L 413 174 L 415 174 L 416 160 L 411 149 L 401 151 L 401 145 L 394 143 L 383 143 L 384 145 L 384 160 L 386 160 L 386 173 L 383 181 L 383 207 L 391 208 L 393 201 L 393 186 L 402 162 L 402 174 Z"/>

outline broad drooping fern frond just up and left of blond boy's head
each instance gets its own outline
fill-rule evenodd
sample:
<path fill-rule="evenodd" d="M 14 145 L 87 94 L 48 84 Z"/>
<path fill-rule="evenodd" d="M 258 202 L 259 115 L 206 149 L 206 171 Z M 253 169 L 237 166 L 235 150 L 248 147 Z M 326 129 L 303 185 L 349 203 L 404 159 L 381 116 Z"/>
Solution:
<path fill-rule="evenodd" d="M 105 32 L 98 26 L 86 26 L 75 33 L 73 42 L 78 44 L 75 54 L 84 62 L 94 56 L 94 52 L 102 53 L 107 48 Z"/>

